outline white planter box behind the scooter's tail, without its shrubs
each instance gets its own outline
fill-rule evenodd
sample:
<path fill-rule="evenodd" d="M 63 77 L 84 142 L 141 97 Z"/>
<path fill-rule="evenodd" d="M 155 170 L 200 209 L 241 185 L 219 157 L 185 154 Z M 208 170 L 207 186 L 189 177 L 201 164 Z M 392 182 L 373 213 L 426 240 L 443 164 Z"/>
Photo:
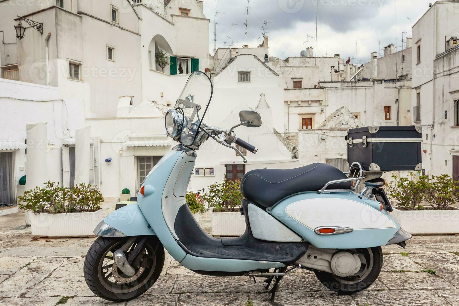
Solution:
<path fill-rule="evenodd" d="M 459 234 L 459 210 L 401 211 L 394 207 L 391 216 L 410 234 Z"/>

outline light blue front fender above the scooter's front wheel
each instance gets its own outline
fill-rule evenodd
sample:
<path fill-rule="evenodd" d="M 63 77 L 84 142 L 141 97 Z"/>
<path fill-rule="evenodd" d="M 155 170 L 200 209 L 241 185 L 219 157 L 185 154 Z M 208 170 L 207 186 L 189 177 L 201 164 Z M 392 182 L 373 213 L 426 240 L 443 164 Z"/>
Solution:
<path fill-rule="evenodd" d="M 94 234 L 103 237 L 156 235 L 137 203 L 123 206 L 106 216 Z"/>

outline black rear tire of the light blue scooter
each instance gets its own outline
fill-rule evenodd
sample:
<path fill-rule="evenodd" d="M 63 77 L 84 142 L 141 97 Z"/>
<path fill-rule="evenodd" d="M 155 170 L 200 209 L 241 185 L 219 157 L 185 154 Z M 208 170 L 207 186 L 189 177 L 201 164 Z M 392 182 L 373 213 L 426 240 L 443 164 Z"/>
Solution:
<path fill-rule="evenodd" d="M 328 272 L 314 271 L 319 281 L 328 289 L 343 295 L 352 295 L 353 293 L 367 289 L 378 278 L 382 267 L 382 249 L 381 246 L 357 249 L 359 254 L 362 254 L 366 259 L 365 264 L 362 264 L 361 273 L 353 277 L 339 277 Z M 371 253 L 371 254 L 370 254 Z M 371 262 L 370 262 L 371 261 Z"/>

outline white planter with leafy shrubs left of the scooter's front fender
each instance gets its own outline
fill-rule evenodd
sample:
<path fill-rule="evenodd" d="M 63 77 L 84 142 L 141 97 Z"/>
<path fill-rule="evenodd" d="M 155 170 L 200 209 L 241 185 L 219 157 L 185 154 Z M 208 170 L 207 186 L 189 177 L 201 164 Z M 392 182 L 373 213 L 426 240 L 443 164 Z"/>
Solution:
<path fill-rule="evenodd" d="M 79 184 L 70 189 L 48 182 L 45 187 L 24 192 L 19 200 L 19 207 L 30 211 L 34 236 L 91 237 L 103 219 L 99 204 L 104 198 L 92 185 Z"/>

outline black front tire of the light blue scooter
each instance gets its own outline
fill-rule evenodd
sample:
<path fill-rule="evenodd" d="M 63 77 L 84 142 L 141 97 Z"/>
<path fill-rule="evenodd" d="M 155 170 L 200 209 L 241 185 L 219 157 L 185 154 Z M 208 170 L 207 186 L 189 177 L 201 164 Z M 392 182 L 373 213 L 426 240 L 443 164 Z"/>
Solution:
<path fill-rule="evenodd" d="M 145 263 L 141 263 L 145 265 L 143 273 L 137 279 L 130 283 L 120 283 L 112 277 L 113 271 L 109 271 L 109 268 L 106 268 L 106 273 L 104 272 L 105 269 L 102 266 L 104 261 L 108 263 L 105 267 L 110 265 L 110 255 L 108 254 L 119 249 L 128 239 L 129 237 L 99 237 L 86 254 L 83 268 L 84 279 L 89 289 L 102 299 L 110 301 L 131 300 L 150 289 L 161 274 L 162 266 L 164 265 L 164 248 L 156 236 L 151 236 L 151 239 L 147 240 L 144 247 L 146 254 L 137 256 L 138 258 L 144 256 L 142 257 L 142 262 L 143 258 L 146 259 Z M 134 268 L 139 271 L 135 266 Z M 113 268 L 111 269 L 113 270 Z M 123 277 L 123 274 L 118 270 L 117 273 Z M 109 274 L 110 276 L 106 277 Z M 102 275 L 105 275 L 105 277 Z M 114 282 L 110 281 L 110 278 L 113 278 Z"/>

